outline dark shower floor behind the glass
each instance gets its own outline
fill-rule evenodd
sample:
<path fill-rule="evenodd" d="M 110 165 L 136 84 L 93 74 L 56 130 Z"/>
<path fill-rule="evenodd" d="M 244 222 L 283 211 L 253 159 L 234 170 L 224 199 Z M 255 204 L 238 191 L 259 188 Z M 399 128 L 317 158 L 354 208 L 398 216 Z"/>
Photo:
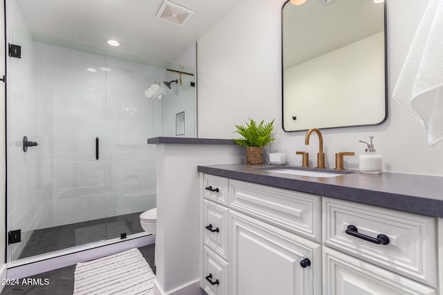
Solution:
<path fill-rule="evenodd" d="M 131 213 L 120 216 L 37 229 L 30 236 L 19 259 L 74 246 L 120 238 L 120 234 L 127 236 L 143 232 L 140 225 L 140 214 Z"/>

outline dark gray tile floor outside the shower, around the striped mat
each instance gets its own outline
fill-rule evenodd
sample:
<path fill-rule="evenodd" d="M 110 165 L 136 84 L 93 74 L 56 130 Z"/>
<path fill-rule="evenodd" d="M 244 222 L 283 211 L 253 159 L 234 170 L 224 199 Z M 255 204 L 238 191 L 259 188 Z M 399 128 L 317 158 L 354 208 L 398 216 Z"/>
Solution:
<path fill-rule="evenodd" d="M 152 271 L 156 272 L 154 266 L 154 251 L 155 244 L 140 247 L 138 250 L 145 257 L 147 263 L 152 268 Z M 48 295 L 68 295 L 73 294 L 74 291 L 74 270 L 75 265 L 69 267 L 63 267 L 60 269 L 51 270 L 50 272 L 44 272 L 30 278 L 49 278 L 49 285 L 6 285 L 1 292 L 1 295 L 19 295 L 19 294 L 48 294 Z"/>

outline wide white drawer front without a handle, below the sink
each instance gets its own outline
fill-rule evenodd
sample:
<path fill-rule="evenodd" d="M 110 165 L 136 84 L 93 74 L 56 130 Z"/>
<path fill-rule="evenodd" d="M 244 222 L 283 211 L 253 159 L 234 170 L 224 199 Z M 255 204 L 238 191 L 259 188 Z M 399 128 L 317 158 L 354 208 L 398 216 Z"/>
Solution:
<path fill-rule="evenodd" d="M 230 180 L 229 195 L 231 209 L 320 242 L 320 196 L 239 180 Z"/>

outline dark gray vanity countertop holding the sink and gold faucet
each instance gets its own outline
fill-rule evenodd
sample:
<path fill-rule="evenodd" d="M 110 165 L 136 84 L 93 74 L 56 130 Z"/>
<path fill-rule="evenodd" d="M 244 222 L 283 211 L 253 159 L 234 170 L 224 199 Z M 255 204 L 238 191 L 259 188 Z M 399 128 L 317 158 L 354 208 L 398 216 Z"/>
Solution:
<path fill-rule="evenodd" d="M 257 170 L 264 167 L 271 167 L 271 165 L 210 165 L 198 166 L 198 171 L 282 189 L 304 191 L 320 196 L 443 218 L 443 177 L 440 176 L 402 173 L 373 175 L 356 171 L 334 178 L 316 178 Z M 280 166 L 280 168 L 284 167 Z M 318 169 L 318 171 L 327 170 Z"/>

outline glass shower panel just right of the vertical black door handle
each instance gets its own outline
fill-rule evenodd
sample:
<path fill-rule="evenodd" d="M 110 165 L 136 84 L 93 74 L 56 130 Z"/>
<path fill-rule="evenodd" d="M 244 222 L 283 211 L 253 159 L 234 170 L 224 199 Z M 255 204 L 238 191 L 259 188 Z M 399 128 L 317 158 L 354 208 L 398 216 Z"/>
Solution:
<path fill-rule="evenodd" d="M 140 214 L 156 207 L 154 100 L 145 96 L 165 69 L 143 59 L 107 50 L 107 239 L 143 233 Z"/>

